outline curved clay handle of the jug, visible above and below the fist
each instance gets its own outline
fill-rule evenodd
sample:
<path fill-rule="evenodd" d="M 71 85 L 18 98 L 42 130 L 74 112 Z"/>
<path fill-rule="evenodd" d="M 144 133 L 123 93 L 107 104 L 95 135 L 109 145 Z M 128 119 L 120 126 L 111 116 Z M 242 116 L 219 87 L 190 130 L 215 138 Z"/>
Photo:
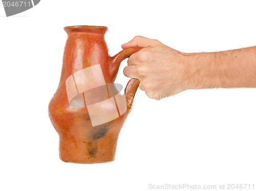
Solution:
<path fill-rule="evenodd" d="M 126 59 L 129 58 L 132 54 L 137 53 L 143 49 L 143 47 L 135 46 L 135 47 L 129 47 L 127 49 L 124 49 L 117 53 L 115 56 L 112 57 L 112 67 L 111 67 L 111 74 L 114 77 L 114 80 L 116 79 L 117 76 L 117 71 L 119 69 L 120 63 Z M 127 104 L 127 109 L 130 110 L 133 104 L 133 99 L 135 96 L 135 93 L 139 87 L 140 81 L 138 79 L 131 79 L 125 89 L 124 89 L 124 94 L 126 98 L 126 104 Z"/>

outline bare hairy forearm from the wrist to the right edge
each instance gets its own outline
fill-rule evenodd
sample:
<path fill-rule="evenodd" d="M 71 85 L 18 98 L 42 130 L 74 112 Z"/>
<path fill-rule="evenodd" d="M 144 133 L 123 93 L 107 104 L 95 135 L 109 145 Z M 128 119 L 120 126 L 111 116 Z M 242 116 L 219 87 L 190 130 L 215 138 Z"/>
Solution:
<path fill-rule="evenodd" d="M 185 56 L 189 89 L 256 87 L 256 46 Z"/>

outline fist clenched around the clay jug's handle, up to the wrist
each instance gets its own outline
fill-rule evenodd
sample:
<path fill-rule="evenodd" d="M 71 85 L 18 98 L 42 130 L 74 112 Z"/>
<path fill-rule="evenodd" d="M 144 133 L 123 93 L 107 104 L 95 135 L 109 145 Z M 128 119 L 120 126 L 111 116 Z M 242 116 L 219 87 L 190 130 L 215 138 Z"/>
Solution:
<path fill-rule="evenodd" d="M 178 52 L 158 40 L 141 36 L 122 44 L 122 49 L 141 46 L 144 49 L 130 56 L 123 74 L 140 80 L 140 89 L 149 98 L 161 100 L 189 89 L 190 70 L 185 64 L 185 53 Z"/>

